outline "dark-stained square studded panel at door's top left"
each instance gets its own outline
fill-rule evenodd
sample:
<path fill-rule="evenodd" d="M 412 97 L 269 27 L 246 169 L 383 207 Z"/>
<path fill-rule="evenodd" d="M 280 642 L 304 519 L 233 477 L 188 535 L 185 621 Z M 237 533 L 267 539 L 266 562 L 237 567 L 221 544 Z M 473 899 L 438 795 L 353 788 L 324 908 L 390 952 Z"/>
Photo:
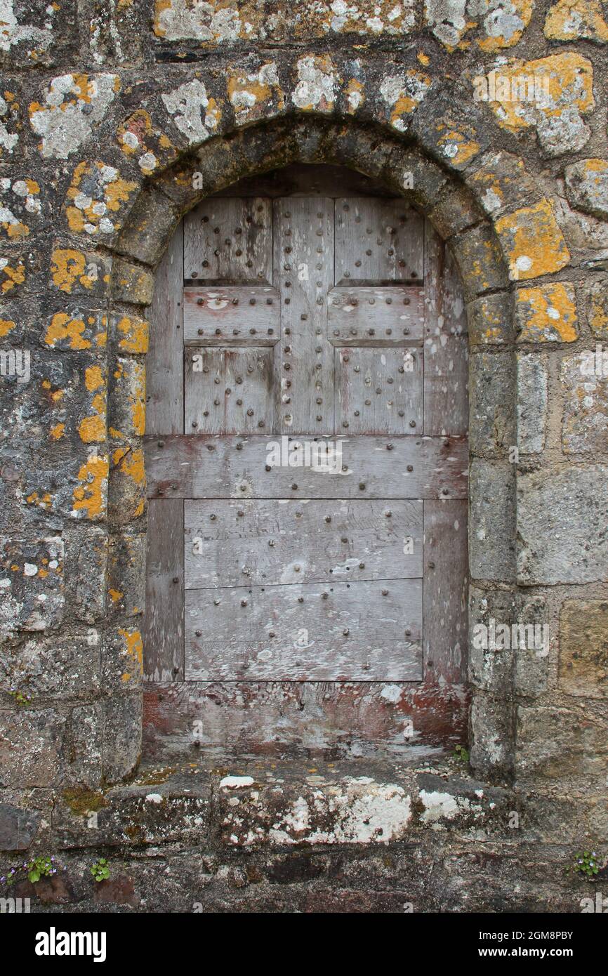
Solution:
<path fill-rule="evenodd" d="M 188 281 L 272 284 L 272 218 L 263 197 L 208 197 L 183 218 Z"/>

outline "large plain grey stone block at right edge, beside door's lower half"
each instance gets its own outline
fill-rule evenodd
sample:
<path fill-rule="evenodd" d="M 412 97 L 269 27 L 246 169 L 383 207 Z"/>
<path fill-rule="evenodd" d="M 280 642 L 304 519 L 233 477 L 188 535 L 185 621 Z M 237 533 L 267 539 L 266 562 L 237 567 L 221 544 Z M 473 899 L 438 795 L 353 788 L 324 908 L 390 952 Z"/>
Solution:
<path fill-rule="evenodd" d="M 608 467 L 521 474 L 517 484 L 518 582 L 592 583 L 608 575 Z"/>

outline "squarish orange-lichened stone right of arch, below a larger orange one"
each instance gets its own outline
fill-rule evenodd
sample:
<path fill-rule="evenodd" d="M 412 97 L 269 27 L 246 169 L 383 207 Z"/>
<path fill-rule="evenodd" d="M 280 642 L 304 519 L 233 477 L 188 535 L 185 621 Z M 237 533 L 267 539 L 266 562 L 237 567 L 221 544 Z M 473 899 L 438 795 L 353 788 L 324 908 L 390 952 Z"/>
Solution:
<path fill-rule="evenodd" d="M 520 343 L 574 343 L 579 337 L 574 287 L 565 281 L 518 288 L 515 328 Z"/>

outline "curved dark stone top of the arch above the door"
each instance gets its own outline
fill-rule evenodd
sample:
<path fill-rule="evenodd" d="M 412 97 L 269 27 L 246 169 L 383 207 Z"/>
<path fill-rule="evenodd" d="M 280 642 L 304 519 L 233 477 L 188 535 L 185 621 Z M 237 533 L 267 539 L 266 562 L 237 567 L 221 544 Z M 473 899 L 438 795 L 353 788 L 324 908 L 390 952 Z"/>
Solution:
<path fill-rule="evenodd" d="M 153 266 L 184 213 L 204 197 L 238 180 L 290 163 L 327 163 L 357 170 L 381 181 L 427 214 L 441 237 L 465 248 L 467 298 L 508 283 L 504 258 L 478 195 L 485 186 L 466 185 L 416 144 L 384 126 L 348 118 L 293 113 L 203 142 L 146 186 L 121 231 L 115 251 L 122 258 Z M 465 231 L 471 230 L 466 236 Z M 124 261 L 117 264 L 124 277 Z M 122 287 L 114 294 L 128 301 Z M 142 303 L 145 304 L 145 303 Z"/>

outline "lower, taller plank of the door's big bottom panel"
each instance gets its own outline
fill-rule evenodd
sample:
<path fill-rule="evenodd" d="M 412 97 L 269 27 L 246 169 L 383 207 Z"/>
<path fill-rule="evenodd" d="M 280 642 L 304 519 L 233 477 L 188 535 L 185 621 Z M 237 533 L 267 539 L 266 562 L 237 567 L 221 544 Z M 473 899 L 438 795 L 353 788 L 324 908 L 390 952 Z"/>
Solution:
<path fill-rule="evenodd" d="M 422 625 L 422 580 L 185 590 L 185 678 L 421 679 Z"/>

